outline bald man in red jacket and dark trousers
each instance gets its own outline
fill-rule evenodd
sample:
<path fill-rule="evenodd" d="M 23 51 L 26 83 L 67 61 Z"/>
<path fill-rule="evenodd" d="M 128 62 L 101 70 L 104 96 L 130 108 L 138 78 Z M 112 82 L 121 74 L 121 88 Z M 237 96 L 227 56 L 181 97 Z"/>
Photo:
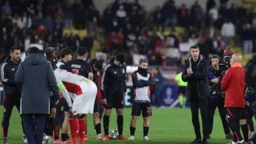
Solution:
<path fill-rule="evenodd" d="M 242 56 L 234 54 L 230 60 L 230 69 L 226 71 L 221 82 L 221 89 L 225 91 L 226 115 L 230 128 L 234 133 L 230 144 L 245 143 L 240 133 L 240 118 L 245 107 L 245 69 L 241 65 Z M 244 117 L 244 116 L 242 116 Z"/>

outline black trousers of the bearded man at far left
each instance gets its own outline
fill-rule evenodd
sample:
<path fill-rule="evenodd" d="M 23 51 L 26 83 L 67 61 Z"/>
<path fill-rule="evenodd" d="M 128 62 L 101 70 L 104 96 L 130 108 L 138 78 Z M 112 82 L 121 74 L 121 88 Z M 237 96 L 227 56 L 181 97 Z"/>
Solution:
<path fill-rule="evenodd" d="M 8 128 L 9 128 L 9 122 L 12 114 L 12 109 L 15 106 L 18 109 L 18 112 L 20 113 L 20 98 L 10 98 L 3 96 L 3 121 L 2 121 L 2 128 L 3 128 L 3 136 L 8 136 Z M 20 117 L 22 117 L 20 115 Z M 24 133 L 24 126 L 22 122 L 22 129 L 23 134 Z"/>

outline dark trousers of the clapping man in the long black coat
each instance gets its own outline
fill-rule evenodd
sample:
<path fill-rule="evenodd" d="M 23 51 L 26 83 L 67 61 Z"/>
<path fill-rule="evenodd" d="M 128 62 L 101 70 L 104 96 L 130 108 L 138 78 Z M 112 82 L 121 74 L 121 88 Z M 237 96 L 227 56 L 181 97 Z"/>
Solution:
<path fill-rule="evenodd" d="M 190 109 L 192 114 L 192 123 L 194 126 L 194 131 L 196 134 L 196 138 L 201 139 L 201 132 L 200 132 L 200 122 L 199 122 L 199 111 L 202 117 L 202 124 L 203 124 L 203 137 L 207 137 L 209 134 L 209 123 L 207 117 L 207 99 L 193 99 L 190 101 Z"/>

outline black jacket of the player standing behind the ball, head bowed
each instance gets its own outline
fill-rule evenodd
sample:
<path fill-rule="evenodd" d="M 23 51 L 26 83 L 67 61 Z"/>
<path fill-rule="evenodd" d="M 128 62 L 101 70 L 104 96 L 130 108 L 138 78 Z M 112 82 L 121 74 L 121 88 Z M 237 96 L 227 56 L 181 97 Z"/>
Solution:
<path fill-rule="evenodd" d="M 123 92 L 126 92 L 125 63 L 118 67 L 114 65 L 114 58 L 110 58 L 108 64 L 103 69 L 100 90 L 102 99 L 105 99 L 106 96 L 123 96 Z"/>

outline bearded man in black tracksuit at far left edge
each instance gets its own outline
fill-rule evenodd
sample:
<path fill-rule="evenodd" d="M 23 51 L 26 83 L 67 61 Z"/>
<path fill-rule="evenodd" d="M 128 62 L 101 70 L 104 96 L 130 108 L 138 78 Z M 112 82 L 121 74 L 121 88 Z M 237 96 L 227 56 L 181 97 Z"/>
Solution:
<path fill-rule="evenodd" d="M 8 128 L 12 113 L 15 106 L 20 112 L 20 90 L 14 81 L 14 75 L 20 65 L 20 48 L 13 46 L 10 49 L 10 56 L 5 59 L 1 69 L 1 82 L 4 85 L 4 101 L 3 101 L 3 143 L 8 143 Z M 22 122 L 23 128 L 23 122 Z M 26 139 L 23 128 L 23 140 Z"/>

